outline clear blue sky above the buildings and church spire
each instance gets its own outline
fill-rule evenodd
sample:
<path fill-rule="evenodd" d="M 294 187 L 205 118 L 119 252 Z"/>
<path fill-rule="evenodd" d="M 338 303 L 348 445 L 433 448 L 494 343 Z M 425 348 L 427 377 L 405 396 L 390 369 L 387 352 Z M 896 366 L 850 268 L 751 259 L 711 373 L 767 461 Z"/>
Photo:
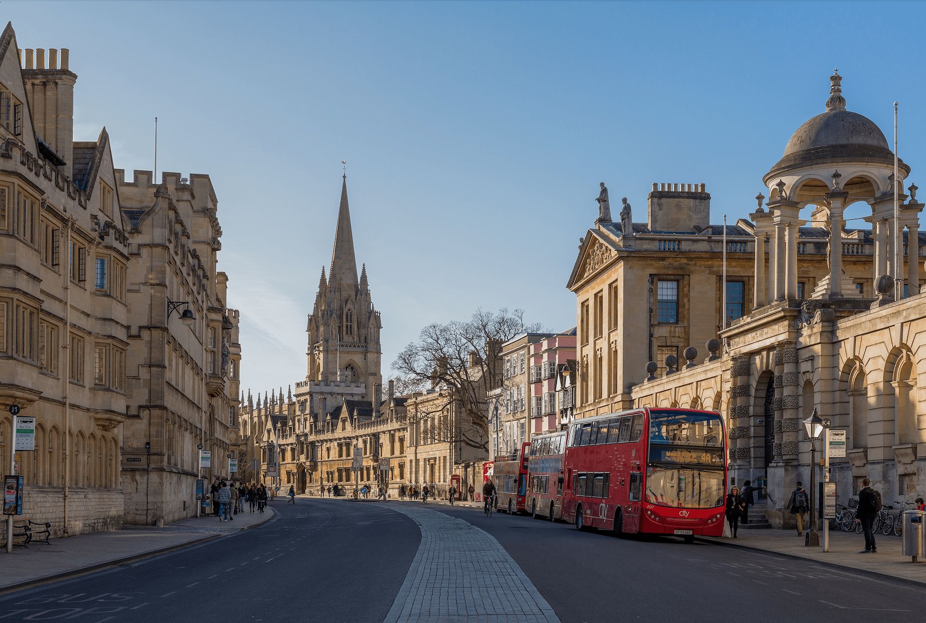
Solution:
<path fill-rule="evenodd" d="M 599 181 L 615 206 L 628 197 L 637 222 L 654 181 L 703 182 L 712 222 L 745 217 L 792 132 L 825 109 L 834 68 L 848 109 L 891 142 L 900 101 L 898 152 L 918 181 L 924 12 L 884 2 L 0 4 L 19 47 L 70 49 L 75 140 L 106 126 L 131 177 L 153 167 L 158 117 L 158 170 L 211 176 L 219 269 L 242 313 L 243 387 L 255 392 L 305 379 L 342 160 L 388 376 L 423 326 L 477 307 L 574 326 L 565 284 Z"/>

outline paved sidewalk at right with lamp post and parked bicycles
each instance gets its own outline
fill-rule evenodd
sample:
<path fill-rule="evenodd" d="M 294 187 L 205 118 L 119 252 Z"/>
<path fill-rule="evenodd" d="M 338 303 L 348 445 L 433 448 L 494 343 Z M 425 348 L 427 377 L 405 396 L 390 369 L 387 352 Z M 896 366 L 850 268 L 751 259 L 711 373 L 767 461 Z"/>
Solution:
<path fill-rule="evenodd" d="M 918 558 L 916 564 L 909 556 L 900 554 L 900 537 L 875 535 L 877 554 L 858 554 L 865 549 L 865 538 L 855 532 L 830 530 L 830 551 L 823 552 L 823 533 L 820 532 L 820 547 L 805 547 L 805 537 L 797 536 L 795 530 L 744 530 L 737 532 L 737 538 L 713 539 L 699 537 L 701 541 L 748 547 L 777 554 L 814 560 L 824 565 L 844 570 L 861 571 L 870 575 L 902 579 L 926 586 L 926 561 Z"/>

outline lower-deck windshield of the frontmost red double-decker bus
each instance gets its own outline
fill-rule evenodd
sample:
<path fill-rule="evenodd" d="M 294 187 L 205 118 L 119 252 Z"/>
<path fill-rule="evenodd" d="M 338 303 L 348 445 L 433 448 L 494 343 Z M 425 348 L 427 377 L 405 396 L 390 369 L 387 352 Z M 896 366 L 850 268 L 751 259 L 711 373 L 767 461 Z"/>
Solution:
<path fill-rule="evenodd" d="M 653 466 L 646 473 L 646 502 L 677 508 L 723 505 L 723 472 Z"/>

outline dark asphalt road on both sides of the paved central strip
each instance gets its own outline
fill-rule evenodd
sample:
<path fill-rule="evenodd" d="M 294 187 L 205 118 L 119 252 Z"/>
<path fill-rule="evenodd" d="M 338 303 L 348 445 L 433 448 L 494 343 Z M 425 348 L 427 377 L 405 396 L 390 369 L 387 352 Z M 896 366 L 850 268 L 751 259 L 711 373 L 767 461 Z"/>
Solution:
<path fill-rule="evenodd" d="M 0 597 L 0 619 L 380 623 L 420 541 L 410 518 L 344 500 L 272 503 L 268 523 Z M 427 505 L 492 534 L 564 623 L 920 620 L 926 590 L 671 538 Z"/>

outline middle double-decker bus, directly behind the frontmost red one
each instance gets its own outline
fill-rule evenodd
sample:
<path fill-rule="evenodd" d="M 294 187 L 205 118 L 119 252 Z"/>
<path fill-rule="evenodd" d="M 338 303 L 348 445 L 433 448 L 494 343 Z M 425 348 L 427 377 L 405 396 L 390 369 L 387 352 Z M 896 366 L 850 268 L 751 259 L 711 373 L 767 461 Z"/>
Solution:
<path fill-rule="evenodd" d="M 550 521 L 563 512 L 563 454 L 566 432 L 536 435 L 531 441 L 531 458 L 527 465 L 527 510 Z"/>

